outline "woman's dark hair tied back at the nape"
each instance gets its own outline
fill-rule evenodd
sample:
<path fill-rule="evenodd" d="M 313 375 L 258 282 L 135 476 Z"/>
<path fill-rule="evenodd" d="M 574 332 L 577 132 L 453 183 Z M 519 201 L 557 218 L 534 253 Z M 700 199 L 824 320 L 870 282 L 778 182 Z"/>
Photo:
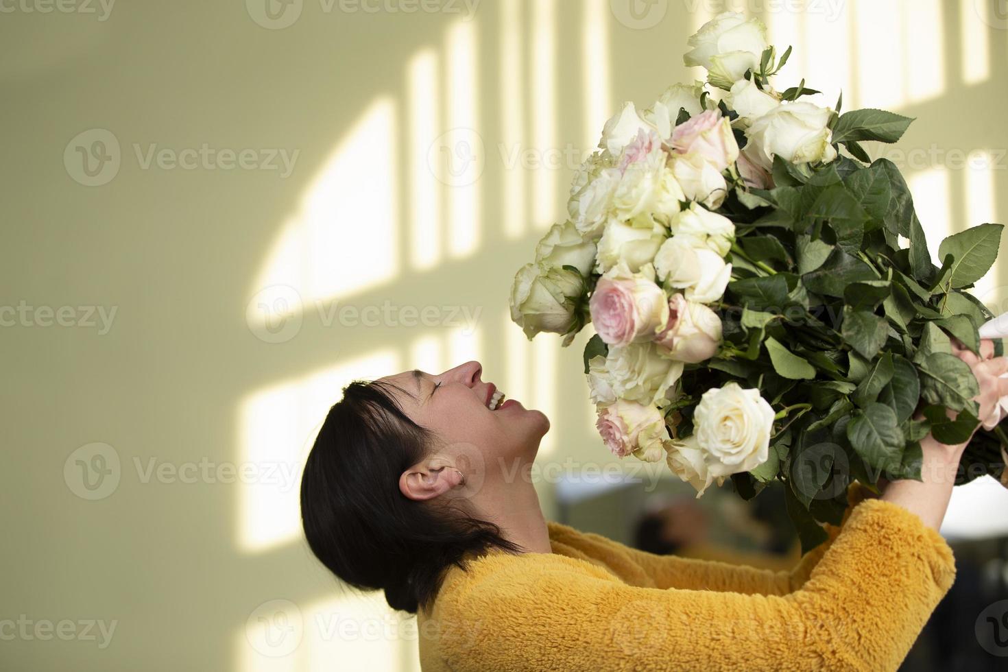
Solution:
<path fill-rule="evenodd" d="M 413 422 L 384 381 L 354 381 L 326 416 L 301 477 L 301 525 L 311 552 L 338 577 L 383 589 L 416 614 L 437 594 L 445 570 L 497 547 L 521 550 L 500 528 L 452 502 L 417 502 L 399 477 L 423 459 L 435 434 Z M 410 394 L 409 392 L 405 392 Z"/>

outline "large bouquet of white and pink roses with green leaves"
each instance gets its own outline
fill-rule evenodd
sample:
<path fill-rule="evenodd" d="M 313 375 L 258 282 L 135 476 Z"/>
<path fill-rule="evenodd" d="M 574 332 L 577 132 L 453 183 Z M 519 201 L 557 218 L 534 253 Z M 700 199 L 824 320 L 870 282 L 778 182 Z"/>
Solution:
<path fill-rule="evenodd" d="M 511 315 L 563 346 L 594 324 L 585 373 L 614 453 L 665 459 L 698 497 L 727 478 L 747 499 L 785 482 L 813 544 L 851 480 L 919 479 L 928 432 L 959 443 L 980 424 L 954 352 L 979 354 L 993 315 L 966 290 L 1002 227 L 947 238 L 934 265 L 899 169 L 862 144 L 896 142 L 912 119 L 841 114 L 803 80 L 776 90 L 791 49 L 778 57 L 757 19 L 726 12 L 688 44 L 707 82 L 606 123 L 570 220 L 515 277 Z M 1002 476 L 998 419 L 958 483 Z"/>

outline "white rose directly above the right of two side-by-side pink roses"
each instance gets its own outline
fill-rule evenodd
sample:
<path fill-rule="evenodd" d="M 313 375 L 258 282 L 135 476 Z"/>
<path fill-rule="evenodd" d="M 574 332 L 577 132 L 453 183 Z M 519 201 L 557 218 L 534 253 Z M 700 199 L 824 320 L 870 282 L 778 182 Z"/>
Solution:
<path fill-rule="evenodd" d="M 694 236 L 676 234 L 662 243 L 654 257 L 658 279 L 681 289 L 690 301 L 714 303 L 725 295 L 732 265 Z"/>

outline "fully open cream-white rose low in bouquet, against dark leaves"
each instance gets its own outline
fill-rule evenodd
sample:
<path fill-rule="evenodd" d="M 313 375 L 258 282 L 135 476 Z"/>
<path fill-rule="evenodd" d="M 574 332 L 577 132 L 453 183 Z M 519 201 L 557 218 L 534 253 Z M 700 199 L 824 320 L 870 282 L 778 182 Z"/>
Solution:
<path fill-rule="evenodd" d="M 773 416 L 759 390 L 728 383 L 705 392 L 694 412 L 694 434 L 711 474 L 731 476 L 765 462 Z"/>

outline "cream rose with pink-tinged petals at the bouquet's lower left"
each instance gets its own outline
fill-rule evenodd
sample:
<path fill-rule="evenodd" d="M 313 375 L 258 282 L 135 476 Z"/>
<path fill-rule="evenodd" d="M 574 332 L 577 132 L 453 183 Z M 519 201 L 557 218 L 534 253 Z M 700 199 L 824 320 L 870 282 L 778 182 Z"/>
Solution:
<path fill-rule="evenodd" d="M 595 426 L 614 455 L 632 454 L 644 461 L 661 459 L 668 432 L 656 407 L 621 399 L 609 406 L 600 406 L 598 413 Z"/>

